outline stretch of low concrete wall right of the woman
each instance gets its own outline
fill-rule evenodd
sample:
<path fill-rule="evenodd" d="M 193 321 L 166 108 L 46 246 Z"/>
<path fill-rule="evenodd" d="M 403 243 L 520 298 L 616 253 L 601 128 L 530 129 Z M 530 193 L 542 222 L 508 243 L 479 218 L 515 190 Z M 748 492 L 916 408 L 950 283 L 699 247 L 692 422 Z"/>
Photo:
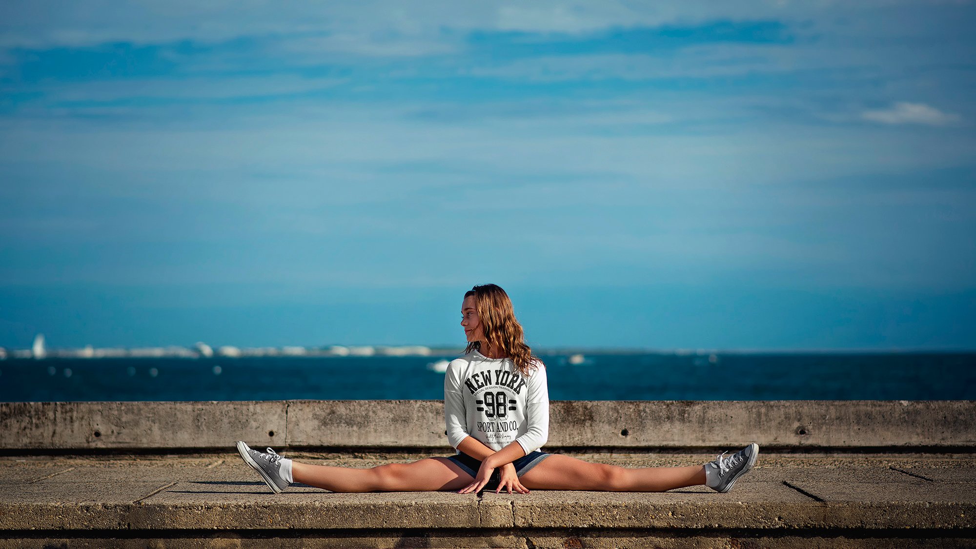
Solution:
<path fill-rule="evenodd" d="M 559 401 L 550 422 L 562 447 L 976 444 L 976 401 Z"/>

